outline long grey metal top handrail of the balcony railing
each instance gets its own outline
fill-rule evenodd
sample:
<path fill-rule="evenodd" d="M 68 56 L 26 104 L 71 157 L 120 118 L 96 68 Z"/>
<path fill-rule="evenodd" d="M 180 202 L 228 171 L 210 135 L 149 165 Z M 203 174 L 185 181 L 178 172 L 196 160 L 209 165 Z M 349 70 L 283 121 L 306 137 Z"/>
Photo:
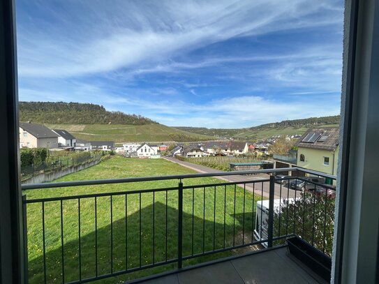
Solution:
<path fill-rule="evenodd" d="M 305 172 L 307 174 L 314 174 L 320 177 L 328 177 L 330 179 L 336 179 L 336 176 L 332 174 L 325 174 L 324 172 L 317 172 L 314 170 L 307 170 L 302 167 L 283 167 L 276 169 L 267 169 L 267 170 L 244 170 L 244 171 L 232 171 L 232 172 L 210 172 L 202 174 L 173 174 L 168 176 L 150 176 L 150 177 L 128 177 L 123 179 L 93 179 L 87 181 L 61 181 L 61 182 L 51 182 L 43 184 L 22 184 L 22 190 L 31 190 L 31 189 L 43 189 L 43 188 L 61 188 L 69 186 L 92 186 L 99 184 L 125 184 L 132 182 L 141 182 L 141 181 L 163 181 L 169 179 L 195 179 L 200 177 L 225 177 L 233 176 L 240 174 L 270 174 L 276 172 Z"/>

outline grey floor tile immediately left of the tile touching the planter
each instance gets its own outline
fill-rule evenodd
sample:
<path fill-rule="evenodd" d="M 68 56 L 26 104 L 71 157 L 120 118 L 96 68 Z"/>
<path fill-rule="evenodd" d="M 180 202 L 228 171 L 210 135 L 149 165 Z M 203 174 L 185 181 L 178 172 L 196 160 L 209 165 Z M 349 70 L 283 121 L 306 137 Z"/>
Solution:
<path fill-rule="evenodd" d="M 230 262 L 192 269 L 178 274 L 180 284 L 239 284 L 244 283 Z"/>

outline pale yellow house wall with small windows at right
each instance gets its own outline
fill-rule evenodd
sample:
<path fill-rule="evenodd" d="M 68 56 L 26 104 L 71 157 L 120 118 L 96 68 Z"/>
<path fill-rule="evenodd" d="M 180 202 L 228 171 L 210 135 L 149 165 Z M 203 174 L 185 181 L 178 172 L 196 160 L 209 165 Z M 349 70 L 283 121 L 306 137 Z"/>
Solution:
<path fill-rule="evenodd" d="M 336 175 L 338 165 L 339 148 L 336 151 L 327 151 L 320 149 L 310 149 L 299 147 L 297 151 L 297 165 L 309 170 L 325 172 L 326 174 Z M 300 157 L 304 155 L 304 162 Z M 329 165 L 324 165 L 324 157 L 329 157 Z"/>

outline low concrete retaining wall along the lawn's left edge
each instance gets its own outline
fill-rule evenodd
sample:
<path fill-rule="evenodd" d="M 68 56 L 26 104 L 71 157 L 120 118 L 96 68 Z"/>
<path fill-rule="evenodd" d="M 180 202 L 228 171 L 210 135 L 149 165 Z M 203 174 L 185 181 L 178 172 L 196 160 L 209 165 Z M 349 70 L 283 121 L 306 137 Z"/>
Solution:
<path fill-rule="evenodd" d="M 54 181 L 54 179 L 59 179 L 60 177 L 64 177 L 66 174 L 72 174 L 73 172 L 79 172 L 80 170 L 87 169 L 87 167 L 92 167 L 100 163 L 101 159 L 91 160 L 86 163 L 82 163 L 80 165 L 66 167 L 62 170 L 55 170 L 52 172 L 46 172 L 43 174 L 38 174 L 35 177 L 31 177 L 30 179 L 26 179 L 22 181 L 22 184 L 39 184 L 43 182 Z"/>

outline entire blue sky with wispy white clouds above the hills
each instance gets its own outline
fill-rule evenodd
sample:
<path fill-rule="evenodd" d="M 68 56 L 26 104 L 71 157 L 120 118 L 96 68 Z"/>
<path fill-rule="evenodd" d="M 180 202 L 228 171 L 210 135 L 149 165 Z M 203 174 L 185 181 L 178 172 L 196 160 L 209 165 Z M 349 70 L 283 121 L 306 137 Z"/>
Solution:
<path fill-rule="evenodd" d="M 16 5 L 21 101 L 207 128 L 340 112 L 342 0 Z"/>

